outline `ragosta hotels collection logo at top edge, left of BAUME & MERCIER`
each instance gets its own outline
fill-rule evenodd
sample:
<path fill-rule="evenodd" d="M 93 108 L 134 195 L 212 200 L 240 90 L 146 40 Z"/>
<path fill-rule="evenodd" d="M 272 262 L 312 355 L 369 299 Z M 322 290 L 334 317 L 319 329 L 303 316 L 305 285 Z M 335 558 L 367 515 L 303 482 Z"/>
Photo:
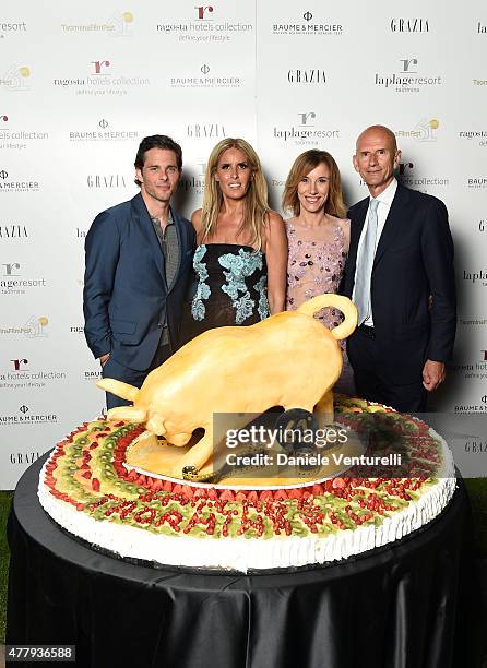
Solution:
<path fill-rule="evenodd" d="M 224 19 L 224 9 L 223 2 L 195 5 L 192 10 L 188 9 L 185 19 L 161 21 L 155 29 L 164 37 L 195 44 L 224 44 L 240 35 L 252 35 L 253 23 Z"/>

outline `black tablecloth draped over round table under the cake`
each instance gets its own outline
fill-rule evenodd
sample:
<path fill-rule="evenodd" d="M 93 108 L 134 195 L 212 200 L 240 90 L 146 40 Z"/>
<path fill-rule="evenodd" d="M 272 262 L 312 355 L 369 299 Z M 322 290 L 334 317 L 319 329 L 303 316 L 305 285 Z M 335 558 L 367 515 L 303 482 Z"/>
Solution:
<path fill-rule="evenodd" d="M 335 565 L 190 574 L 103 556 L 49 520 L 24 474 L 9 520 L 8 643 L 75 644 L 90 668 L 471 668 L 470 512 Z M 72 664 L 71 664 L 72 666 Z"/>

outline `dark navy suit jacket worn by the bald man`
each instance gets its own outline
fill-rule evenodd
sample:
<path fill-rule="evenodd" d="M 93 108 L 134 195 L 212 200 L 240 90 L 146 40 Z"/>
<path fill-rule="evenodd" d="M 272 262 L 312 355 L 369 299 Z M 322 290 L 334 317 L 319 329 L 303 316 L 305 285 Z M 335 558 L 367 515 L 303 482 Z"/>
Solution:
<path fill-rule="evenodd" d="M 341 288 L 347 297 L 354 289 L 358 240 L 368 206 L 366 198 L 348 211 L 351 247 Z M 371 301 L 382 365 L 397 384 L 417 379 L 426 359 L 451 359 L 456 326 L 455 277 L 443 202 L 397 184 L 376 251 Z M 348 348 L 353 353 L 352 342 Z"/>

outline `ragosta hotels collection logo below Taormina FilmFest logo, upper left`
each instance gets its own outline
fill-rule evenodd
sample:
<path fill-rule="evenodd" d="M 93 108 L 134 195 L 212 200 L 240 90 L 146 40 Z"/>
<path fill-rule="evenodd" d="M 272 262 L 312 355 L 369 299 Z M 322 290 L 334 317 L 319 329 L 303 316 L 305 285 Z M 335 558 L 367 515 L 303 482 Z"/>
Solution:
<path fill-rule="evenodd" d="M 78 76 L 60 76 L 52 80 L 59 88 L 74 91 L 76 95 L 118 96 L 149 86 L 151 81 L 143 76 L 127 76 L 118 71 L 118 63 L 100 58 L 86 63 L 85 73 Z"/>

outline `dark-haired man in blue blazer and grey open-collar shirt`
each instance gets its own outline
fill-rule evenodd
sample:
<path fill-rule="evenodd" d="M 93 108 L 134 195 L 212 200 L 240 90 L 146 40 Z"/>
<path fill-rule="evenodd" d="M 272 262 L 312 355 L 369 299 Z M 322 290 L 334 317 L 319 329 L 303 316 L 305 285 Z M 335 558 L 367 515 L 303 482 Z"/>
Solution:
<path fill-rule="evenodd" d="M 98 214 L 86 235 L 84 333 L 104 378 L 140 387 L 174 351 L 195 244 L 170 206 L 181 147 L 156 134 L 135 158 L 141 192 Z M 107 393 L 107 407 L 127 404 Z"/>

